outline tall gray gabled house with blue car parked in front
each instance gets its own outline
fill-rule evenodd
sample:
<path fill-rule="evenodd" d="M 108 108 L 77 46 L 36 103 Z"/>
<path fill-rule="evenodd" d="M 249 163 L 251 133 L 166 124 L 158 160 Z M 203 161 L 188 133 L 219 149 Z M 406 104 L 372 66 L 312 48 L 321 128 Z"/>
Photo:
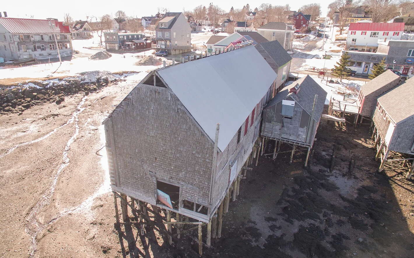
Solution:
<path fill-rule="evenodd" d="M 191 51 L 191 27 L 182 12 L 167 12 L 155 28 L 156 50 L 175 55 Z"/>

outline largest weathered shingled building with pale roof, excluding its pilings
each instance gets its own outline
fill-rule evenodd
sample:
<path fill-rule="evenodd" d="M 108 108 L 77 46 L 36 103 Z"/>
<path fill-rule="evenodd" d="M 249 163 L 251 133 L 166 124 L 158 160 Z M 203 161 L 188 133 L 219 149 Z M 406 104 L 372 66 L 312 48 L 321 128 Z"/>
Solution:
<path fill-rule="evenodd" d="M 209 222 L 252 152 L 276 77 L 254 46 L 150 72 L 103 122 L 112 189 Z"/>

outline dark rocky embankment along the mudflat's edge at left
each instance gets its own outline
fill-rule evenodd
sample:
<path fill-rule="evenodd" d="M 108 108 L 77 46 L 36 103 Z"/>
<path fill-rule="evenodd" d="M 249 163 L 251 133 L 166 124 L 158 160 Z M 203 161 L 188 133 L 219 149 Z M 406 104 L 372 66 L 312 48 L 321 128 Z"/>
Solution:
<path fill-rule="evenodd" d="M 88 95 L 102 87 L 123 81 L 109 72 L 84 72 L 76 77 L 58 81 L 34 81 L 27 84 L 0 85 L 0 114 L 22 113 L 31 106 L 44 103 L 60 105 L 65 96 L 77 93 Z"/>

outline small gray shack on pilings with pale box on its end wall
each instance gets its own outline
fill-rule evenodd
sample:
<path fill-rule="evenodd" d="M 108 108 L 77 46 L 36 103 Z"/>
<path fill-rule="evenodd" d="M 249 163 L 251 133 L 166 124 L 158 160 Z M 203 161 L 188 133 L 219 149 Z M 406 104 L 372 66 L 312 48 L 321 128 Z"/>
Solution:
<path fill-rule="evenodd" d="M 309 75 L 284 87 L 263 110 L 261 135 L 274 140 L 273 159 L 282 143 L 292 147 L 290 162 L 296 151 L 306 150 L 305 166 L 325 105 L 327 93 Z M 298 149 L 296 149 L 298 147 Z M 302 147 L 303 149 L 299 149 Z"/>

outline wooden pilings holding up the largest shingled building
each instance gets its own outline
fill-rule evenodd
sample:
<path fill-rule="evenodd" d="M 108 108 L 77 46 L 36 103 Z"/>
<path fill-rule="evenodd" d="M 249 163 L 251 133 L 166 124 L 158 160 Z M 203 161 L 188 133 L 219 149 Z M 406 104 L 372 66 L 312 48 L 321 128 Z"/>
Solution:
<path fill-rule="evenodd" d="M 251 171 L 252 168 L 249 165 L 255 164 L 257 166 L 260 155 L 260 149 L 262 148 L 262 141 L 259 138 L 256 140 L 253 151 L 250 153 L 241 171 L 230 184 L 229 189 L 226 191 L 223 200 L 217 208 L 214 215 L 209 222 L 197 221 L 191 217 L 174 212 L 168 209 L 156 205 L 150 205 L 141 200 L 137 200 L 123 193 L 113 191 L 116 226 L 120 226 L 125 223 L 134 222 L 138 231 L 142 236 L 145 235 L 145 226 L 150 222 L 151 217 L 148 211 L 150 210 L 154 214 L 154 220 L 158 218 L 162 219 L 162 223 L 166 225 L 166 233 L 168 234 L 168 244 L 173 244 L 173 239 L 178 240 L 181 238 L 181 234 L 198 229 L 198 239 L 193 241 L 198 243 L 198 252 L 200 256 L 203 253 L 203 245 L 209 248 L 212 243 L 217 241 L 221 237 L 221 228 L 223 225 L 223 217 L 229 211 L 229 203 L 236 201 L 236 196 L 240 193 L 240 183 L 243 178 L 247 177 L 247 171 Z M 263 151 L 263 149 L 261 149 Z M 118 202 L 119 200 L 119 202 Z M 120 209 L 118 208 L 120 206 Z M 120 220 L 122 216 L 122 222 Z M 130 216 L 132 215 L 132 216 Z M 207 226 L 207 236 L 205 242 L 203 242 L 202 227 Z M 173 233 L 174 232 L 174 233 Z"/>

